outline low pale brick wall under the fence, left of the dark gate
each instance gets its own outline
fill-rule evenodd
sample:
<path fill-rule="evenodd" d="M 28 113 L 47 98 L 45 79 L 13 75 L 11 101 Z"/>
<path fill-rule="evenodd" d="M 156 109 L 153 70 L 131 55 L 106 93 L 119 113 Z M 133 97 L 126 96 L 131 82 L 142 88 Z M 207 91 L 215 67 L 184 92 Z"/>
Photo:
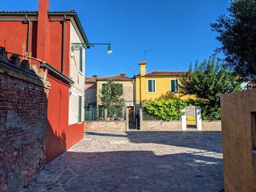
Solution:
<path fill-rule="evenodd" d="M 85 121 L 84 131 L 126 131 L 126 121 Z"/>

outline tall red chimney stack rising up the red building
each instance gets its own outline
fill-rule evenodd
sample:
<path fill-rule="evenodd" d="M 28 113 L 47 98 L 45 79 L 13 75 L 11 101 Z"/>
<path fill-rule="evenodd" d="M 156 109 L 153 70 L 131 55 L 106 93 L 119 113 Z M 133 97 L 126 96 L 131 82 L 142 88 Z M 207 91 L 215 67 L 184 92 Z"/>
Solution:
<path fill-rule="evenodd" d="M 38 0 L 37 58 L 42 61 L 47 61 L 49 1 L 50 0 Z"/>

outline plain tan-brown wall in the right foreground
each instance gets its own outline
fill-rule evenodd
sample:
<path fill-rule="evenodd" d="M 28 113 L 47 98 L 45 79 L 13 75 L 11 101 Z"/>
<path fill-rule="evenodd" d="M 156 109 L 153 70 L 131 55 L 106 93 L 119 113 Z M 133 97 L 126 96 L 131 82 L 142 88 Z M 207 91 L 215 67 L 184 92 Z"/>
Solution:
<path fill-rule="evenodd" d="M 256 191 L 256 90 L 221 97 L 225 191 Z"/>

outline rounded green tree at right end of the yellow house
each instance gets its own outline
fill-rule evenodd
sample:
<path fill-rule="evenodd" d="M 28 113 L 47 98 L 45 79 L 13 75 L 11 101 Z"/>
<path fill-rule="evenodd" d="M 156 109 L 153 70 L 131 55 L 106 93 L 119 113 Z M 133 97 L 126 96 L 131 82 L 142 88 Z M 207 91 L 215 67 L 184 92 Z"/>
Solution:
<path fill-rule="evenodd" d="M 182 74 L 180 81 L 181 93 L 195 95 L 198 100 L 191 103 L 203 108 L 204 116 L 209 119 L 220 118 L 219 99 L 222 94 L 241 90 L 238 77 L 216 57 L 210 57 L 199 65 L 196 61 L 194 69 L 190 64 L 189 72 Z"/>

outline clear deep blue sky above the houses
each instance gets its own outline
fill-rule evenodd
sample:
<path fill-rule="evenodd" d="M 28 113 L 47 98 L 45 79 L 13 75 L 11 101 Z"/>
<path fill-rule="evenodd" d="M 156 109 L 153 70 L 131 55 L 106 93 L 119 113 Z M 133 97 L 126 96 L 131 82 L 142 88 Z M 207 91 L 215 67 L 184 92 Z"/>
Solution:
<path fill-rule="evenodd" d="M 185 71 L 214 53 L 219 42 L 210 23 L 225 14 L 227 0 L 50 0 L 50 10 L 75 10 L 89 42 L 111 42 L 86 53 L 86 77 L 147 71 Z M 1 2 L 4 10 L 37 10 L 37 0 Z"/>

